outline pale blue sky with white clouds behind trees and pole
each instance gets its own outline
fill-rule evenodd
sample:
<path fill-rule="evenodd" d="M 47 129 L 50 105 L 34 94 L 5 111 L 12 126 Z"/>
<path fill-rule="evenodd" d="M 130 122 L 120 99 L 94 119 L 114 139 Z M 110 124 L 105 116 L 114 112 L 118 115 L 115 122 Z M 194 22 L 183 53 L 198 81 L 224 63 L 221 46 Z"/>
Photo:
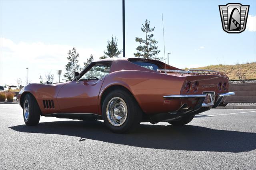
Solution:
<path fill-rule="evenodd" d="M 222 30 L 218 5 L 230 2 L 250 5 L 250 23 L 248 18 L 247 30 L 241 34 Z M 164 56 L 162 13 L 166 53 L 172 53 L 170 65 L 185 68 L 256 61 L 255 0 L 127 0 L 126 57 L 136 52 L 135 37 L 145 37 L 140 28 L 146 19 L 156 27 L 154 38 L 161 50 L 159 56 Z M 73 46 L 80 53 L 81 64 L 90 54 L 98 58 L 112 34 L 122 49 L 120 0 L 0 0 L 0 84 L 15 85 L 17 78 L 24 84 L 27 67 L 31 83 L 38 83 L 39 75 L 45 79 L 47 72 L 64 72 L 66 53 Z"/>

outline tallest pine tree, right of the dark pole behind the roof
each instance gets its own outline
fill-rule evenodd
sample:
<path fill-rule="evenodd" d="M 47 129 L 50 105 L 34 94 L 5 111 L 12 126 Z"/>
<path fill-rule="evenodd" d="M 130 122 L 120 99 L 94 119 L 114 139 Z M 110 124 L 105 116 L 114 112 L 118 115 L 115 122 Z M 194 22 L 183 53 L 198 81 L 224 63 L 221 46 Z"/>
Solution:
<path fill-rule="evenodd" d="M 142 24 L 141 30 L 142 32 L 146 33 L 146 40 L 138 37 L 135 38 L 136 42 L 143 45 L 139 45 L 136 48 L 137 53 L 134 53 L 134 55 L 136 57 L 143 57 L 145 59 L 162 60 L 162 57 L 156 57 L 160 50 L 158 50 L 158 47 L 156 46 L 158 42 L 153 39 L 154 34 L 151 33 L 155 30 L 155 27 L 150 28 L 150 21 L 146 20 L 145 23 Z"/>

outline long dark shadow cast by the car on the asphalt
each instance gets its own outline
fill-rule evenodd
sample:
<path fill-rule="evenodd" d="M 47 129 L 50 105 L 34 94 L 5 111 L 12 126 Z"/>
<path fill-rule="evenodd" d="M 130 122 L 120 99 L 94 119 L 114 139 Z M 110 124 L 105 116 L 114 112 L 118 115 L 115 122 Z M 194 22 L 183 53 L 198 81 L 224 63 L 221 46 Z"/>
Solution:
<path fill-rule="evenodd" d="M 115 134 L 101 121 L 56 121 L 38 126 L 9 127 L 19 132 L 61 134 L 115 144 L 167 150 L 246 152 L 256 149 L 256 133 L 218 130 L 192 125 L 140 125 L 136 132 Z M 84 140 L 84 139 L 85 140 Z"/>

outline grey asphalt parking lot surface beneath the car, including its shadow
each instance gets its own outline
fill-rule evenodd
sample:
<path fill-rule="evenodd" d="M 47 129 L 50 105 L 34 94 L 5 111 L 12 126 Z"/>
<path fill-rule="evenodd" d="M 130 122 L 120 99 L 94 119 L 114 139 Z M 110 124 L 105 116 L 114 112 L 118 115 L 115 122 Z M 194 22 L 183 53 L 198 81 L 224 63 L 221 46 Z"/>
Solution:
<path fill-rule="evenodd" d="M 101 121 L 24 124 L 0 105 L 0 169 L 256 169 L 256 111 L 212 109 L 186 126 L 143 123 L 114 134 Z"/>

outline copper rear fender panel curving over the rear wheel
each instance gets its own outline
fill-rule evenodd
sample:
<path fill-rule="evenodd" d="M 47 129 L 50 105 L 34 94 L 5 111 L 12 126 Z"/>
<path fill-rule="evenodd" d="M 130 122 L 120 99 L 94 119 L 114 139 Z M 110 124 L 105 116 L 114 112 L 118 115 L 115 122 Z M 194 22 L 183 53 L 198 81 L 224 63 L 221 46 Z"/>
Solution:
<path fill-rule="evenodd" d="M 180 94 L 184 79 L 184 77 L 148 71 L 124 70 L 112 72 L 106 76 L 100 90 L 99 108 L 101 108 L 102 93 L 112 85 L 121 85 L 132 93 L 144 113 L 163 113 L 178 109 L 182 102 L 175 101 L 167 105 L 164 103 L 163 96 Z"/>

